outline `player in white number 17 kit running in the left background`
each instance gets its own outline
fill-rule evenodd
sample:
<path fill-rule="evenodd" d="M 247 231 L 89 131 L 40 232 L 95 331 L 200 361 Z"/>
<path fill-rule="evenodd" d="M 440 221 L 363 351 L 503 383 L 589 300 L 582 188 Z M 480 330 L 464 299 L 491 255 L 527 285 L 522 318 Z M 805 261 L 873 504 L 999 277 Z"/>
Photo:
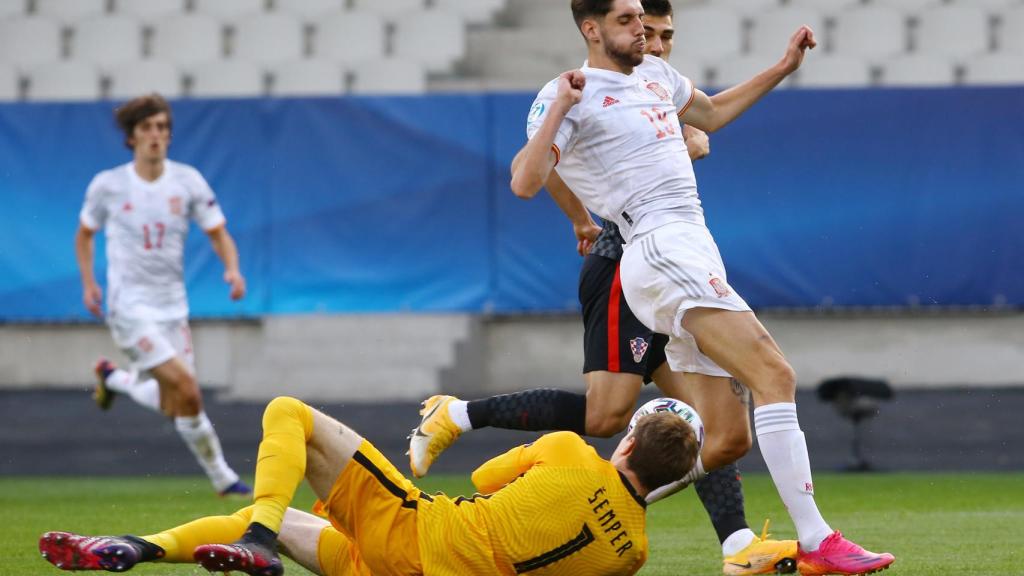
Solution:
<path fill-rule="evenodd" d="M 203 411 L 196 381 L 188 302 L 182 269 L 189 220 L 210 237 L 224 263 L 232 300 L 246 293 L 239 252 L 217 199 L 198 170 L 167 158 L 171 109 L 158 94 L 126 102 L 115 112 L 131 162 L 93 177 L 75 236 L 82 297 L 102 316 L 102 291 L 93 274 L 94 236 L 106 234 L 106 324 L 130 359 L 122 370 L 96 364 L 94 399 L 108 409 L 116 395 L 174 419 L 174 427 L 221 495 L 252 490 L 224 461 L 220 441 Z"/>

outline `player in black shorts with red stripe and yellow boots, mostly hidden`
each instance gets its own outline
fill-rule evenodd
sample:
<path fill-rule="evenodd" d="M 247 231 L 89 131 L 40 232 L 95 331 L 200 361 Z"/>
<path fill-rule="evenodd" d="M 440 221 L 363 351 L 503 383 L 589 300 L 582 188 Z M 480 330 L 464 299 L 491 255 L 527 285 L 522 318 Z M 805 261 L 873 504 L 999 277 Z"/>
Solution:
<path fill-rule="evenodd" d="M 669 0 L 643 3 L 645 53 L 668 60 L 675 29 Z M 684 126 L 684 140 L 691 160 L 707 156 L 707 133 Z M 654 334 L 630 310 L 622 294 L 618 261 L 623 240 L 611 220 L 598 228 L 565 182 L 552 171 L 546 188 L 573 223 L 581 254 L 586 254 L 580 272 L 580 303 L 584 321 L 584 379 L 586 395 L 542 388 L 464 402 L 453 397 L 427 401 L 425 413 L 438 402 L 436 423 L 425 420 L 420 429 L 428 437 L 416 437 L 411 444 L 414 474 L 422 476 L 434 454 L 444 449 L 442 439 L 454 441 L 468 429 L 486 426 L 525 430 L 568 429 L 608 438 L 626 428 L 644 381 L 653 380 L 669 396 L 692 405 L 705 422 L 707 438 L 697 464 L 687 475 L 681 489 L 695 481 L 701 503 L 708 510 L 722 545 L 725 574 L 774 573 L 776 566 L 797 558 L 794 540 L 768 540 L 766 531 L 758 537 L 746 522 L 742 484 L 735 461 L 751 448 L 748 392 L 728 376 L 696 371 L 673 372 L 665 358 L 668 336 Z M 451 422 L 444 417 L 454 415 Z M 453 430 L 445 434 L 444 427 Z M 432 430 L 439 430 L 436 440 Z M 431 447 L 431 444 L 433 446 Z M 713 470 L 706 477 L 706 469 Z M 666 491 L 663 494 L 668 494 Z"/>

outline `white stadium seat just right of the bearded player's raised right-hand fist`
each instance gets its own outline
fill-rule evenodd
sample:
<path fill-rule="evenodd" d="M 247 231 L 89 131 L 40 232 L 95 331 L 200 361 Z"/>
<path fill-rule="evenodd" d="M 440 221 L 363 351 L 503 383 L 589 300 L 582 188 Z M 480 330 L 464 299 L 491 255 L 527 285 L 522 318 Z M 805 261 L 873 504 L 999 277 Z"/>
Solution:
<path fill-rule="evenodd" d="M 907 49 L 906 16 L 899 10 L 869 6 L 843 12 L 831 34 L 833 51 L 872 61 Z"/>

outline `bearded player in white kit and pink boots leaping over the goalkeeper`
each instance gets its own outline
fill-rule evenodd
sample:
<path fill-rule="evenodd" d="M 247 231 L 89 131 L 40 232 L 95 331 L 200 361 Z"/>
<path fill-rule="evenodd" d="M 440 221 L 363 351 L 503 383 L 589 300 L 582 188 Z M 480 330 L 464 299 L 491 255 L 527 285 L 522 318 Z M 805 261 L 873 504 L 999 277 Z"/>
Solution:
<path fill-rule="evenodd" d="M 588 60 L 538 95 L 512 191 L 532 197 L 556 169 L 590 210 L 618 225 L 627 242 L 623 293 L 641 322 L 669 335 L 670 367 L 717 369 L 751 388 L 761 453 L 797 527 L 800 572 L 888 567 L 892 554 L 845 539 L 818 511 L 797 419 L 796 374 L 728 285 L 693 167 L 681 154 L 680 121 L 715 131 L 734 120 L 800 67 L 816 44 L 813 32 L 801 27 L 778 64 L 709 97 L 664 60 L 644 56 L 640 0 L 572 0 L 571 8 Z"/>

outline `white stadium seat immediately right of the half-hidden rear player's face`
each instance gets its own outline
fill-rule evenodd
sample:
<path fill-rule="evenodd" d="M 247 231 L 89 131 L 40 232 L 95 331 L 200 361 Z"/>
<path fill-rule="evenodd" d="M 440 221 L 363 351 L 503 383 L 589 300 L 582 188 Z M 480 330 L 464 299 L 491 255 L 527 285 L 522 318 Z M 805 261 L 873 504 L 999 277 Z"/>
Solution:
<path fill-rule="evenodd" d="M 676 12 L 673 54 L 720 59 L 738 54 L 743 48 L 743 23 L 739 14 L 726 8 L 694 6 Z"/>

